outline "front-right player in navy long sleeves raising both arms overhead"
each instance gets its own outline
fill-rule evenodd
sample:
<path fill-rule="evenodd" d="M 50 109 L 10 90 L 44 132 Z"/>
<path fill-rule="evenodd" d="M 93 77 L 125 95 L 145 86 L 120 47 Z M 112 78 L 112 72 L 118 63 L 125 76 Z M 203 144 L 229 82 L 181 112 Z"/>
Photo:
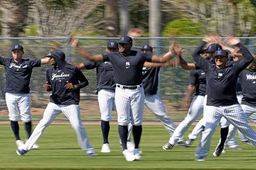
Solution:
<path fill-rule="evenodd" d="M 209 39 L 204 39 L 206 42 Z M 207 102 L 204 107 L 205 129 L 202 133 L 202 139 L 196 150 L 196 160 L 205 160 L 210 148 L 210 140 L 215 130 L 215 126 L 224 116 L 231 124 L 240 130 L 249 140 L 256 145 L 256 133 L 249 126 L 247 117 L 243 109 L 238 104 L 236 98 L 236 84 L 239 72 L 245 69 L 252 61 L 253 57 L 250 52 L 239 43 L 239 39 L 230 37 L 227 39 L 229 45 L 236 45 L 241 49 L 244 60 L 238 63 L 227 64 L 228 53 L 226 50 L 217 50 L 214 53 L 215 64 L 210 64 L 199 56 L 202 47 L 206 44 L 203 42 L 199 45 L 192 56 L 196 64 L 206 74 L 207 81 Z"/>

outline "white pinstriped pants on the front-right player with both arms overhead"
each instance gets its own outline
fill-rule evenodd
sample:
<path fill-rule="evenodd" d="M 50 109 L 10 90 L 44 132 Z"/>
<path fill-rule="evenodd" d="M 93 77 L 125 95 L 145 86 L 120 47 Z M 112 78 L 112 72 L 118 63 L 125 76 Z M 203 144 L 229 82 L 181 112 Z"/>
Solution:
<path fill-rule="evenodd" d="M 205 120 L 205 129 L 202 133 L 199 146 L 196 149 L 196 157 L 207 156 L 210 149 L 211 137 L 222 116 L 227 118 L 231 124 L 241 131 L 245 137 L 248 138 L 254 146 L 256 146 L 256 132 L 249 126 L 247 117 L 240 105 L 235 104 L 231 106 L 219 107 L 206 105 L 204 108 L 203 117 Z"/>

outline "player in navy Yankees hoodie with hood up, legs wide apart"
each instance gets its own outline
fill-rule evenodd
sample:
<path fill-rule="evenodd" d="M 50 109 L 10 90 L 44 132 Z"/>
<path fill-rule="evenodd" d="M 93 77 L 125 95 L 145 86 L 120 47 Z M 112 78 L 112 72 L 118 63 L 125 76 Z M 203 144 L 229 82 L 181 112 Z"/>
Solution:
<path fill-rule="evenodd" d="M 46 84 L 44 84 L 43 90 L 52 91 L 50 103 L 45 109 L 42 120 L 39 121 L 22 149 L 17 150 L 17 154 L 26 154 L 42 135 L 45 128 L 62 112 L 75 130 L 82 150 L 88 156 L 95 156 L 95 150 L 91 146 L 82 124 L 78 105 L 80 89 L 87 86 L 88 81 L 81 70 L 65 61 L 65 54 L 61 50 L 54 50 L 47 57 L 51 58 L 50 64 L 53 67 L 46 70 Z"/>

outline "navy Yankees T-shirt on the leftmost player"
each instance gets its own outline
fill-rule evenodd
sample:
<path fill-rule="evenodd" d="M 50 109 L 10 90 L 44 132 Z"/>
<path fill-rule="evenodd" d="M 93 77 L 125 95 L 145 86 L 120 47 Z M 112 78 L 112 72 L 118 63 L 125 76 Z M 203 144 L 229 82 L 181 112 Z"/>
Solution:
<path fill-rule="evenodd" d="M 15 94 L 29 94 L 29 82 L 33 67 L 41 66 L 41 60 L 22 59 L 16 63 L 13 58 L 0 57 L 4 65 L 6 86 L 5 91 Z"/>

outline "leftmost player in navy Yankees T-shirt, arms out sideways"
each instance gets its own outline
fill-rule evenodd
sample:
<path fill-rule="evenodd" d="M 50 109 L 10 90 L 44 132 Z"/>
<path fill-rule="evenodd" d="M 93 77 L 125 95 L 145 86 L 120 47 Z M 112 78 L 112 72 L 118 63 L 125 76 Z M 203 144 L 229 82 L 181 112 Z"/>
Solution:
<path fill-rule="evenodd" d="M 19 114 L 21 121 L 25 123 L 27 137 L 31 135 L 32 123 L 30 113 L 29 82 L 34 67 L 49 62 L 49 58 L 41 60 L 23 59 L 24 50 L 21 45 L 12 46 L 12 58 L 0 57 L 0 64 L 4 65 L 6 86 L 5 100 L 9 111 L 11 128 L 16 139 L 16 145 L 20 148 L 23 141 L 19 135 Z M 33 149 L 39 146 L 34 144 Z"/>

